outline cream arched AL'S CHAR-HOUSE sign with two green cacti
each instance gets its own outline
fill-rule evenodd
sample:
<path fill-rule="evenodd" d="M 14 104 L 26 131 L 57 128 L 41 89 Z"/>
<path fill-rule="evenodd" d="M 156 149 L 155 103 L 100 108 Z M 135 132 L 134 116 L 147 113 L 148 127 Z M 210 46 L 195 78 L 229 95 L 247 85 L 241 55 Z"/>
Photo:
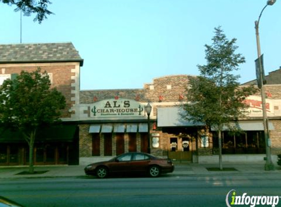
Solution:
<path fill-rule="evenodd" d="M 144 106 L 129 99 L 102 100 L 91 105 L 91 117 L 143 117 Z"/>

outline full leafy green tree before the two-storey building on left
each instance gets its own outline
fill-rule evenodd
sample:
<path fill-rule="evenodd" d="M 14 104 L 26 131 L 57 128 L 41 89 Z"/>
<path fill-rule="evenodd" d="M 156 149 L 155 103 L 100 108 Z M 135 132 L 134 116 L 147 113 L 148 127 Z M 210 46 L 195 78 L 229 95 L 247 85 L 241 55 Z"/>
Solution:
<path fill-rule="evenodd" d="M 47 72 L 22 71 L 14 79 L 6 79 L 0 86 L 0 123 L 19 130 L 29 145 L 29 173 L 33 168 L 33 147 L 36 132 L 42 126 L 58 122 L 65 97 L 51 88 Z"/>

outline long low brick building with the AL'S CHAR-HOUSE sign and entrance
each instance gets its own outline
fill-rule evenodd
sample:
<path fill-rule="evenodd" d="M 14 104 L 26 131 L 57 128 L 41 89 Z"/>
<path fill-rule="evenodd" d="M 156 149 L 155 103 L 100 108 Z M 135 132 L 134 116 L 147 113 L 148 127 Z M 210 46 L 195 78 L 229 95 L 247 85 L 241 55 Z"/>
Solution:
<path fill-rule="evenodd" d="M 181 104 L 190 76 L 154 78 L 143 89 L 80 91 L 80 164 L 109 159 L 125 152 L 147 152 L 150 115 L 151 153 L 193 162 L 217 162 L 216 129 L 184 120 Z M 281 153 L 281 84 L 267 85 L 266 99 L 272 153 Z M 262 161 L 265 154 L 260 95 L 250 96 L 249 116 L 231 123 L 239 132 L 223 130 L 225 161 Z M 132 106 L 132 107 L 130 107 Z M 241 159 L 241 156 L 244 157 Z M 235 158 L 236 157 L 236 158 Z M 250 158 L 249 158 L 250 157 Z"/>

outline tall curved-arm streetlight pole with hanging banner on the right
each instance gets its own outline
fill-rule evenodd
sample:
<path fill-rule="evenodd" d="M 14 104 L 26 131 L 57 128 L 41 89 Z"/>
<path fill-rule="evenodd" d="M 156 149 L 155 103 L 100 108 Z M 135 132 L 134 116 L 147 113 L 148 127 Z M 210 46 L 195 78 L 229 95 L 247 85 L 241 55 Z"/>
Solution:
<path fill-rule="evenodd" d="M 262 63 L 261 63 L 261 52 L 260 52 L 260 43 L 259 43 L 259 33 L 258 33 L 258 25 L 259 25 L 259 20 L 261 17 L 261 14 L 263 10 L 268 6 L 268 5 L 273 5 L 276 2 L 276 0 L 268 0 L 266 5 L 263 7 L 261 10 L 258 20 L 255 21 L 255 37 L 256 37 L 256 47 L 257 47 L 257 61 L 258 61 L 258 75 L 257 77 L 260 79 L 257 79 L 259 81 L 259 86 L 260 86 L 260 93 L 261 93 L 261 103 L 262 103 L 262 118 L 263 118 L 263 129 L 264 129 L 264 139 L 265 139 L 265 150 L 266 150 L 266 163 L 264 166 L 265 170 L 274 170 L 274 165 L 272 163 L 271 159 L 271 141 L 270 141 L 270 136 L 269 136 L 269 129 L 268 129 L 268 118 L 267 118 L 267 113 L 266 113 L 266 101 L 265 101 L 265 80 L 263 79 L 264 72 L 262 68 Z"/>

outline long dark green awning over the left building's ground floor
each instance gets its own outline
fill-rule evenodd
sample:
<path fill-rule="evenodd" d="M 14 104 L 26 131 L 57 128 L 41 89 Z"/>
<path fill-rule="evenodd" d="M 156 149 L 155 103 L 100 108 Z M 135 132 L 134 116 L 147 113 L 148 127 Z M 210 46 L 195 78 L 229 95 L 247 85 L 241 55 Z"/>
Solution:
<path fill-rule="evenodd" d="M 38 129 L 35 142 L 72 142 L 76 137 L 76 125 L 57 125 Z M 0 143 L 26 142 L 19 131 L 0 128 Z"/>

